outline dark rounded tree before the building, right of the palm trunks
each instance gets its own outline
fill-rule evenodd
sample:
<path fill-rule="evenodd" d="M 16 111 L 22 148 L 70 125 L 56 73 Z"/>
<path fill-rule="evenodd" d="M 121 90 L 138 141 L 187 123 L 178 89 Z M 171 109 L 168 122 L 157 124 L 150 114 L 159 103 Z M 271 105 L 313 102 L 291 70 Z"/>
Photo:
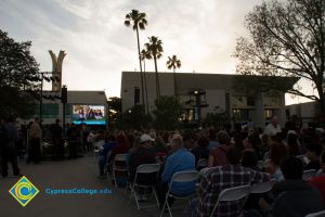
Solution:
<path fill-rule="evenodd" d="M 161 95 L 155 101 L 156 108 L 153 114 L 156 116 L 155 125 L 158 129 L 173 129 L 182 115 L 183 105 L 178 97 Z"/>

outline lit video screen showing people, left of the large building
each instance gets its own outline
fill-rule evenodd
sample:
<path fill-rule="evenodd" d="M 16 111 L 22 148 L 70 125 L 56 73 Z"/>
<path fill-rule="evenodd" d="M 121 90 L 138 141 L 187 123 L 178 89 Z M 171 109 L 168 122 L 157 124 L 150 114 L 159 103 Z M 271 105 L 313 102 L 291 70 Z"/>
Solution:
<path fill-rule="evenodd" d="M 104 105 L 74 105 L 73 122 L 76 125 L 105 125 Z"/>

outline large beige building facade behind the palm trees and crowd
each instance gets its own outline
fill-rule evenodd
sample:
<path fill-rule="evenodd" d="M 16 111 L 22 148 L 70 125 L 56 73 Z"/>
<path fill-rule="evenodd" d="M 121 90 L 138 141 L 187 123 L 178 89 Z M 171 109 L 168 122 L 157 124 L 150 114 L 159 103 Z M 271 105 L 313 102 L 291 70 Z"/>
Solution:
<path fill-rule="evenodd" d="M 204 118 L 208 113 L 223 112 L 236 123 L 252 122 L 257 127 L 264 127 L 272 116 L 277 116 L 281 124 L 286 120 L 284 92 L 277 91 L 274 94 L 274 91 L 261 90 L 247 94 L 243 87 L 235 82 L 238 75 L 177 73 L 176 85 L 172 73 L 158 73 L 158 76 L 160 95 L 178 95 L 184 104 L 184 116 L 188 120 L 197 120 L 199 115 Z M 146 98 L 144 101 L 148 103 L 148 110 L 153 111 L 156 100 L 155 73 L 144 73 L 144 78 L 147 102 Z M 120 95 L 123 112 L 135 105 L 136 91 L 141 91 L 140 73 L 122 72 Z M 142 94 L 139 95 L 139 104 L 142 104 Z"/>

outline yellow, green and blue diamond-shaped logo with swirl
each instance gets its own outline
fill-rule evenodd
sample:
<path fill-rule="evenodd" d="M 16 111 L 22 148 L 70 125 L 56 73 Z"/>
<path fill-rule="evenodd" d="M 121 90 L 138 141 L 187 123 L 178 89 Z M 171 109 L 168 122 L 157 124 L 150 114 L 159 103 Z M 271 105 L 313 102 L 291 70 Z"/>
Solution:
<path fill-rule="evenodd" d="M 23 176 L 15 186 L 9 190 L 9 193 L 20 202 L 22 206 L 26 206 L 39 193 L 39 190 Z"/>

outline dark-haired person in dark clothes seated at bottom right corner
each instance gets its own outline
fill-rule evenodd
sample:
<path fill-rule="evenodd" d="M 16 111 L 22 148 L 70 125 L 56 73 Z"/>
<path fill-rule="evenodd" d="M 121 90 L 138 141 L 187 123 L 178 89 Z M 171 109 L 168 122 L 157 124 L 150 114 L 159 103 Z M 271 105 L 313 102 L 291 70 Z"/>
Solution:
<path fill-rule="evenodd" d="M 264 200 L 260 201 L 263 208 L 271 208 L 274 217 L 304 217 L 310 213 L 324 209 L 321 193 L 302 180 L 302 162 L 294 156 L 281 164 L 285 180 L 274 184 L 275 195 L 273 207 Z"/>

